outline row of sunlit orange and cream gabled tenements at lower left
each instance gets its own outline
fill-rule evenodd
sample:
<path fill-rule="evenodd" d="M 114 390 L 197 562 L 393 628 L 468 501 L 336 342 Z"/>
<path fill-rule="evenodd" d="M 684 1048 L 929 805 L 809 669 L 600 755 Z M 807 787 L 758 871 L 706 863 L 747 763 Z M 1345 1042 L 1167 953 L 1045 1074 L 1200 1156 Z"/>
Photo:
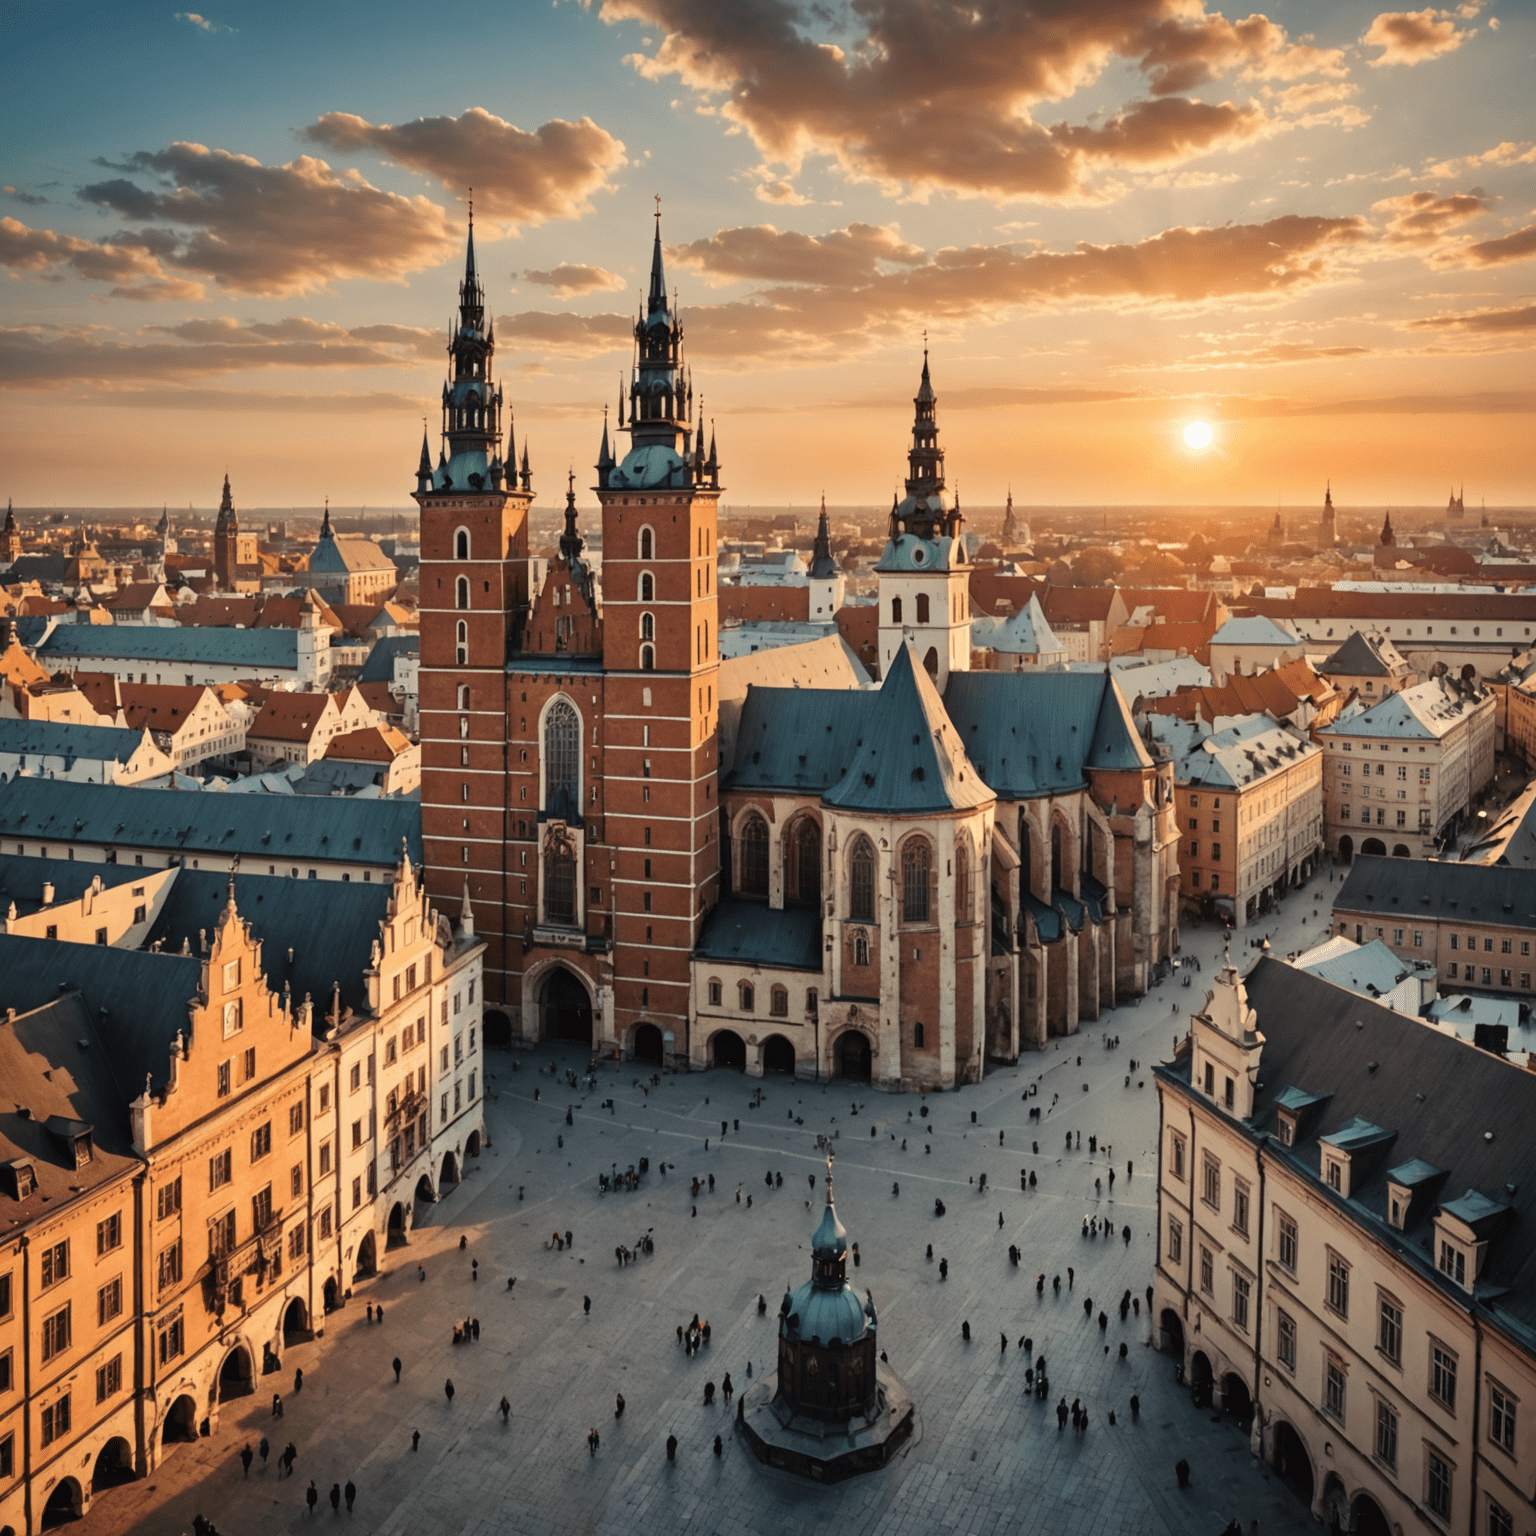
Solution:
<path fill-rule="evenodd" d="M 207 1435 L 481 1150 L 467 903 L 409 859 L 163 883 L 147 948 L 0 934 L 0 1528 Z"/>

